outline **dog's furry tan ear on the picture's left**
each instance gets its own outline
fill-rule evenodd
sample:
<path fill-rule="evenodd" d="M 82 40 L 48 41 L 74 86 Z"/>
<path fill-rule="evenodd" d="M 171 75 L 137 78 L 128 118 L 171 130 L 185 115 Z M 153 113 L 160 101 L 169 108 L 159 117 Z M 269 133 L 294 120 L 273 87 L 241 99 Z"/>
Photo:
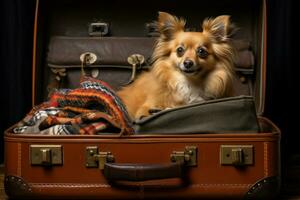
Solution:
<path fill-rule="evenodd" d="M 174 34 L 184 31 L 185 20 L 166 13 L 158 12 L 157 30 L 165 40 L 173 38 Z"/>

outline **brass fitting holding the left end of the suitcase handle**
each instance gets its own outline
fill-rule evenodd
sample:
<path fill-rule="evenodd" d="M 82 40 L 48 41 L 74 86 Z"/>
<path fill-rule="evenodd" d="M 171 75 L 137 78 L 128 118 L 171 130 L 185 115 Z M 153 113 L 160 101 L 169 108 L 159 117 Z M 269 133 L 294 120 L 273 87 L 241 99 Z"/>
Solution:
<path fill-rule="evenodd" d="M 86 147 L 86 167 L 104 169 L 106 162 L 114 162 L 111 152 L 98 152 L 97 146 Z"/>

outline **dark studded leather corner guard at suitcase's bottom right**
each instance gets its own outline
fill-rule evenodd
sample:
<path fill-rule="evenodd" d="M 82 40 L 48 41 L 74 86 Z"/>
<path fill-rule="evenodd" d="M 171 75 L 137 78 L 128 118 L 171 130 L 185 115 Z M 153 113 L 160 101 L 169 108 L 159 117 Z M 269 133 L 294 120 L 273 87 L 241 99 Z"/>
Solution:
<path fill-rule="evenodd" d="M 277 176 L 271 176 L 256 182 L 245 195 L 245 200 L 250 199 L 275 199 L 280 189 L 280 179 Z"/>

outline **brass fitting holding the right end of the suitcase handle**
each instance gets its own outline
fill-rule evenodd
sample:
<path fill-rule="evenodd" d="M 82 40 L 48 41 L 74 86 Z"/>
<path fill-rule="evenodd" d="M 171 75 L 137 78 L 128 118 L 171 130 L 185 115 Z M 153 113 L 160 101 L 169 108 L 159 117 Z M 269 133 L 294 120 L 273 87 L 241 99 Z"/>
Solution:
<path fill-rule="evenodd" d="M 197 147 L 186 146 L 184 151 L 173 151 L 172 162 L 184 162 L 186 166 L 197 166 Z"/>

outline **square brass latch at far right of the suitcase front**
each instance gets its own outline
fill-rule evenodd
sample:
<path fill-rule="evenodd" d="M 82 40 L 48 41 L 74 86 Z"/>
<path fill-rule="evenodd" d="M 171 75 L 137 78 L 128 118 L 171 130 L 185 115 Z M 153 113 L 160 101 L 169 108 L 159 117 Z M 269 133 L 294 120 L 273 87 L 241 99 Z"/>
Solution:
<path fill-rule="evenodd" d="M 221 145 L 220 162 L 222 165 L 252 165 L 253 149 L 253 145 Z"/>

